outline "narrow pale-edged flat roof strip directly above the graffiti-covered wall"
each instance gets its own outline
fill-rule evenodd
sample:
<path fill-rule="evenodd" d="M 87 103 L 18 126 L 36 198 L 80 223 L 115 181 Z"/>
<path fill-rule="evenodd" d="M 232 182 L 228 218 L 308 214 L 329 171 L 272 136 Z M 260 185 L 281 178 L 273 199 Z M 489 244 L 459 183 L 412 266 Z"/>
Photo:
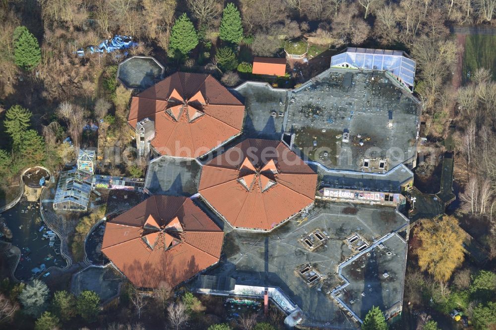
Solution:
<path fill-rule="evenodd" d="M 413 180 L 413 173 L 400 164 L 385 174 L 327 169 L 315 163 L 310 167 L 319 175 L 320 188 L 344 188 L 368 191 L 401 192 L 401 185 Z"/>

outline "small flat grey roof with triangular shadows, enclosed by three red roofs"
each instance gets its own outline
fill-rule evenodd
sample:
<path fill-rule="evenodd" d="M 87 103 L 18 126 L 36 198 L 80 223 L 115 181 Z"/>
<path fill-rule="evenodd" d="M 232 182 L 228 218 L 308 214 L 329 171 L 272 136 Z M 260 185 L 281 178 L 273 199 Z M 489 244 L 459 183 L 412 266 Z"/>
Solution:
<path fill-rule="evenodd" d="M 198 192 L 201 166 L 194 159 L 162 156 L 150 162 L 145 188 L 153 195 L 191 196 Z"/>

